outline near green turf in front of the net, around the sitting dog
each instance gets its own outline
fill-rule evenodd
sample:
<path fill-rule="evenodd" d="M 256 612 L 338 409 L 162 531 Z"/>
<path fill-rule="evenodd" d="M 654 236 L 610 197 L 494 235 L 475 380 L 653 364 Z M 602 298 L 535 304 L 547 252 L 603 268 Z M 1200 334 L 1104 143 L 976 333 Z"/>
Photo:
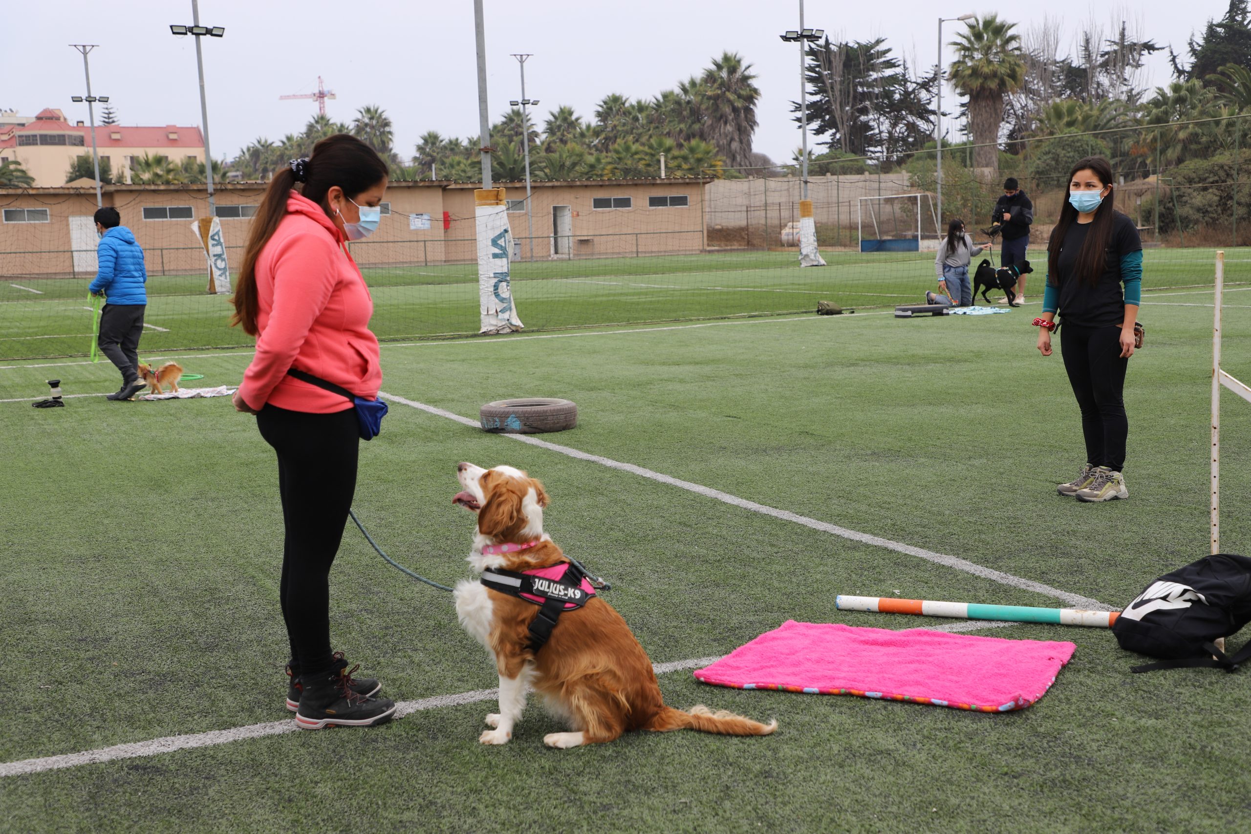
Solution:
<path fill-rule="evenodd" d="M 549 441 L 1120 608 L 1207 553 L 1211 291 L 1171 293 L 1145 299 L 1131 498 L 1105 505 L 1053 491 L 1082 449 L 1062 360 L 1033 346 L 1037 304 L 384 345 L 383 389 L 469 418 L 504 396 L 567 396 L 579 425 Z M 1247 379 L 1251 293 L 1226 300 L 1225 368 Z M 180 361 L 219 385 L 248 356 Z M 0 369 L 6 396 L 44 395 L 53 373 L 68 394 L 116 386 L 108 364 L 25 365 Z M 1225 404 L 1222 543 L 1247 553 L 1251 405 Z M 276 468 L 251 418 L 225 399 L 0 403 L 0 763 L 286 718 Z M 656 663 L 721 655 L 787 619 L 951 624 L 839 613 L 838 593 L 1061 604 L 393 401 L 362 444 L 355 508 L 393 556 L 444 583 L 467 575 L 473 528 L 450 504 L 459 460 L 544 481 L 548 531 L 613 580 L 605 598 Z M 398 700 L 497 683 L 450 599 L 352 528 L 332 605 L 335 648 Z M 673 705 L 777 718 L 768 738 L 549 750 L 558 724 L 535 701 L 510 744 L 488 748 L 493 700 L 427 701 L 370 730 L 4 775 L 0 830 L 1247 830 L 1246 673 L 1132 675 L 1140 659 L 1105 630 L 973 633 L 1077 650 L 1008 714 L 659 675 Z"/>

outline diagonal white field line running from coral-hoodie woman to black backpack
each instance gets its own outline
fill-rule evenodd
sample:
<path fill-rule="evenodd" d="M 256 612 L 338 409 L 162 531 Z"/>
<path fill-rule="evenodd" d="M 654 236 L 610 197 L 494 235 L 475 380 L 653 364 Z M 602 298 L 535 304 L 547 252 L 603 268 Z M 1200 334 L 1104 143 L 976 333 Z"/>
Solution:
<path fill-rule="evenodd" d="M 440 408 L 433 405 L 427 405 L 424 403 L 417 403 L 414 400 L 405 399 L 403 396 L 397 396 L 395 394 L 388 394 L 387 391 L 379 391 L 382 398 L 392 400 L 394 403 L 400 403 L 402 405 L 408 405 L 409 408 L 420 409 L 428 414 L 434 414 L 437 416 L 447 418 L 449 420 L 455 420 L 463 425 L 473 426 L 480 429 L 482 425 L 478 420 L 472 420 L 459 414 L 453 414 Z M 613 460 L 610 458 L 603 458 L 600 455 L 592 455 L 578 449 L 572 449 L 569 446 L 562 446 L 554 443 L 548 443 L 547 440 L 539 440 L 528 434 L 505 434 L 505 438 L 512 438 L 520 443 L 528 443 L 532 446 L 539 446 L 540 449 L 548 449 L 550 451 L 557 451 L 570 458 L 577 458 L 578 460 L 589 460 L 592 463 L 608 466 L 609 469 L 617 469 L 619 471 L 628 471 L 634 475 L 641 475 L 662 484 L 669 484 L 671 486 L 677 486 L 679 489 L 703 495 L 706 498 L 712 498 L 733 506 L 739 506 L 744 510 L 751 510 L 753 513 L 759 513 L 762 515 L 771 515 L 776 519 L 782 519 L 784 521 L 793 521 L 796 524 L 802 524 L 806 528 L 813 530 L 821 530 L 822 533 L 831 533 L 843 539 L 849 539 L 851 541 L 861 541 L 863 544 L 869 544 L 877 548 L 884 548 L 887 550 L 894 550 L 896 553 L 903 553 L 909 556 L 918 556 L 927 561 L 943 565 L 946 568 L 955 568 L 967 574 L 975 576 L 981 576 L 983 579 L 990 579 L 991 581 L 997 581 L 1002 585 L 1011 585 L 1012 588 L 1020 588 L 1023 590 L 1031 590 L 1036 594 L 1045 594 L 1047 596 L 1053 596 L 1056 599 L 1063 600 L 1070 605 L 1093 610 L 1112 610 L 1097 599 L 1091 599 L 1090 596 L 1081 596 L 1078 594 L 1071 594 L 1058 588 L 1052 588 L 1051 585 L 1043 585 L 1042 583 L 1036 583 L 1032 579 L 1022 579 L 1021 576 L 1013 576 L 1012 574 L 1003 573 L 1001 570 L 995 570 L 992 568 L 983 568 L 982 565 L 968 561 L 967 559 L 961 559 L 958 556 L 948 556 L 947 554 L 934 553 L 933 550 L 924 550 L 923 548 L 916 548 L 911 544 L 903 544 L 901 541 L 892 541 L 889 539 L 883 539 L 868 533 L 859 533 L 857 530 L 849 530 L 837 524 L 829 524 L 827 521 L 818 521 L 817 519 L 811 519 L 806 515 L 799 515 L 797 513 L 791 513 L 789 510 L 779 510 L 773 506 L 766 506 L 764 504 L 757 504 L 756 501 L 749 501 L 744 498 L 738 498 L 737 495 L 731 495 L 729 493 L 723 493 L 718 489 L 712 489 L 703 486 L 701 484 L 693 484 L 688 480 L 681 480 L 678 478 L 672 478 L 669 475 L 663 475 L 658 471 L 651 469 L 644 469 L 643 466 L 636 466 L 634 464 L 620 463 L 619 460 Z"/>

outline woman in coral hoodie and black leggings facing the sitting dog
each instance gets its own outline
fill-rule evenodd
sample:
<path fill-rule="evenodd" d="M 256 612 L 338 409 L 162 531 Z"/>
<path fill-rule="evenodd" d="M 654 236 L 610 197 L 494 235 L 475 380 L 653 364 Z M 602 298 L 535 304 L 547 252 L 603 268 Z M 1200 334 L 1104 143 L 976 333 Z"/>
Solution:
<path fill-rule="evenodd" d="M 330 649 L 330 565 L 357 488 L 359 433 L 343 394 L 313 376 L 375 399 L 382 385 L 374 305 L 344 245 L 377 226 L 387 164 L 359 139 L 323 139 L 309 159 L 279 171 L 251 221 L 234 295 L 233 324 L 256 336 L 256 354 L 234 395 L 256 415 L 278 453 L 283 500 L 283 620 L 291 661 L 286 708 L 305 729 L 368 726 L 395 704 L 375 696 Z"/>

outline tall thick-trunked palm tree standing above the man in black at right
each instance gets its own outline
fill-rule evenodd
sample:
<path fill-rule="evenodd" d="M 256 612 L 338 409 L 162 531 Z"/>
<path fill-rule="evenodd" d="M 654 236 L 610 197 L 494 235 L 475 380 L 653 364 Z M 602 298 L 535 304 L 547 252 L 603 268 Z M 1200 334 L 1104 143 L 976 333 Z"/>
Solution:
<path fill-rule="evenodd" d="M 1012 31 L 1016 24 L 1000 20 L 995 14 L 975 18 L 966 26 L 948 44 L 956 48 L 950 78 L 956 89 L 968 96 L 973 144 L 977 145 L 973 166 L 990 169 L 993 178 L 1000 170 L 1003 96 L 1025 83 L 1021 36 Z"/>

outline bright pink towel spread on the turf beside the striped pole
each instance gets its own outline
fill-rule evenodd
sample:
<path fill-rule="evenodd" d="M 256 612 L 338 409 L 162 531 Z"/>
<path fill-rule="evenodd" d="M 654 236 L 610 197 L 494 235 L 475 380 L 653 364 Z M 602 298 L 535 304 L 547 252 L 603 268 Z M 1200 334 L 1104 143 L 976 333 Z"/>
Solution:
<path fill-rule="evenodd" d="M 906 700 L 981 713 L 1025 709 L 1077 646 L 928 629 L 787 620 L 694 675 L 734 689 Z"/>

